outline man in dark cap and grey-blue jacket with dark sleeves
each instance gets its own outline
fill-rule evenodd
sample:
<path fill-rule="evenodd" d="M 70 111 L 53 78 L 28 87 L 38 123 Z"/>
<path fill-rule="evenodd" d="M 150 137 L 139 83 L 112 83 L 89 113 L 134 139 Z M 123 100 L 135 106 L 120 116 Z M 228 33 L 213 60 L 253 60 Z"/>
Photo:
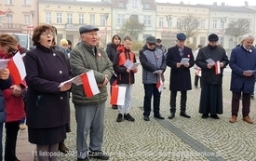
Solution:
<path fill-rule="evenodd" d="M 146 39 L 146 45 L 140 51 L 140 61 L 142 66 L 142 83 L 144 86 L 144 117 L 145 121 L 149 121 L 151 113 L 151 99 L 154 95 L 154 117 L 165 119 L 160 114 L 160 94 L 156 87 L 160 77 L 163 79 L 163 72 L 166 70 L 167 62 L 164 53 L 161 49 L 155 48 L 156 39 L 154 36 L 149 36 Z M 155 71 L 157 73 L 153 74 Z"/>

